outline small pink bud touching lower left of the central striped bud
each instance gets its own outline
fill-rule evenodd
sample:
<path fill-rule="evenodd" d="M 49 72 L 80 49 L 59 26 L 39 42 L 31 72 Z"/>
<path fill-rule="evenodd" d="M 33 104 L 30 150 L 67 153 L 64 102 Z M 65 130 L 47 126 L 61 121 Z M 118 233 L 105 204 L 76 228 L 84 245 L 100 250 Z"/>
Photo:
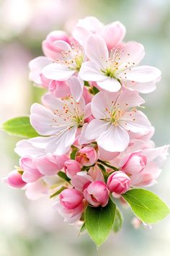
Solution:
<path fill-rule="evenodd" d="M 64 170 L 68 178 L 72 179 L 77 172 L 81 171 L 81 166 L 76 160 L 68 160 L 64 163 Z"/>

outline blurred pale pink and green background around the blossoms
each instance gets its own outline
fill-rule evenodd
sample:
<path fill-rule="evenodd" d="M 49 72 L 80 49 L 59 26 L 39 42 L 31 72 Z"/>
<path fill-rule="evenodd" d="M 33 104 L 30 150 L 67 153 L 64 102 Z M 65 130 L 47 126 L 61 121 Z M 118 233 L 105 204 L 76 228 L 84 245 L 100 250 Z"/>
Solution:
<path fill-rule="evenodd" d="M 51 30 L 71 31 L 76 20 L 97 16 L 102 22 L 120 20 L 127 27 L 125 40 L 146 47 L 143 64 L 162 71 L 157 90 L 146 99 L 144 110 L 156 127 L 156 145 L 170 144 L 169 0 L 5 0 L 0 1 L 0 114 L 1 121 L 29 114 L 42 91 L 28 81 L 28 61 L 42 54 L 41 41 Z M 0 132 L 0 176 L 17 163 L 13 152 L 19 138 Z M 170 205 L 170 158 L 158 184 L 151 187 Z M 30 202 L 24 192 L 0 184 L 0 256 L 169 256 L 170 217 L 153 228 L 133 229 L 133 214 L 122 209 L 125 222 L 98 250 L 86 234 L 51 209 L 51 202 Z"/>

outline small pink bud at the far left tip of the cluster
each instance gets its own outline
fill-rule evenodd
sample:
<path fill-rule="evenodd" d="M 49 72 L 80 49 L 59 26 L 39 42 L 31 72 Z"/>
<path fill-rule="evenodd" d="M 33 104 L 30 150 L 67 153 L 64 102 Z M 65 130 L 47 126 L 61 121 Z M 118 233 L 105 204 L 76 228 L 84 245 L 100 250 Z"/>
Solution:
<path fill-rule="evenodd" d="M 19 174 L 18 171 L 12 171 L 8 174 L 6 182 L 9 186 L 14 187 L 16 189 L 24 187 L 26 182 L 22 180 L 22 174 Z"/>

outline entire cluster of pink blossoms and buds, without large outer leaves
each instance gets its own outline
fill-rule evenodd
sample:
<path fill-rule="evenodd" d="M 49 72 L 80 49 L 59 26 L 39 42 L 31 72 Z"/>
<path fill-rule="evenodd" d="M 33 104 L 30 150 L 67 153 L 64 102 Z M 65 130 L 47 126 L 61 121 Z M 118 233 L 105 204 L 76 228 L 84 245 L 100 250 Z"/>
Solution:
<path fill-rule="evenodd" d="M 151 93 L 161 72 L 139 66 L 142 44 L 125 42 L 120 22 L 79 20 L 73 33 L 57 30 L 30 61 L 30 80 L 46 88 L 30 109 L 40 135 L 17 142 L 19 167 L 6 178 L 27 197 L 53 199 L 74 223 L 87 205 L 104 208 L 134 187 L 156 183 L 169 146 L 156 148 L 154 128 L 139 93 Z"/>

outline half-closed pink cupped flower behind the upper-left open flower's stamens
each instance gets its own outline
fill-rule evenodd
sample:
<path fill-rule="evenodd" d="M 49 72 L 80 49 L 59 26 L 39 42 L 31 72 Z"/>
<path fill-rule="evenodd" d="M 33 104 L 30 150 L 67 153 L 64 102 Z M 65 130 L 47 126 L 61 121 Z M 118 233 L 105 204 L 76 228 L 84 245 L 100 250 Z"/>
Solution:
<path fill-rule="evenodd" d="M 56 60 L 58 54 L 61 53 L 61 49 L 56 46 L 57 40 L 63 40 L 67 43 L 70 43 L 68 35 L 64 31 L 57 30 L 52 31 L 47 35 L 47 38 L 42 41 L 42 51 L 50 59 Z"/>

